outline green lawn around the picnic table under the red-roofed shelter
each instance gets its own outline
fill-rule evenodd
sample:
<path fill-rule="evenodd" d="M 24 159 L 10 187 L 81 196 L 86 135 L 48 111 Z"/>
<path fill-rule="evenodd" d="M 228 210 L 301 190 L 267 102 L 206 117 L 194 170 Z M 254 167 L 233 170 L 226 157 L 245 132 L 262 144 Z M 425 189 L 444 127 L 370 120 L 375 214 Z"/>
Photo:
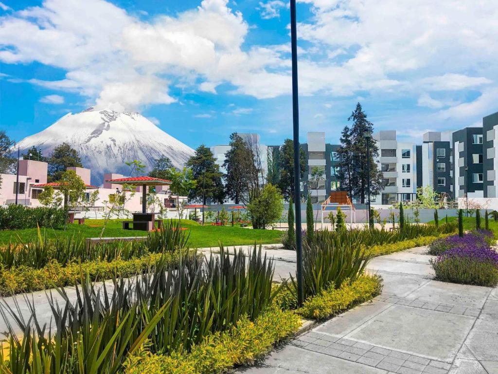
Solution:
<path fill-rule="evenodd" d="M 103 219 L 86 219 L 84 225 L 69 224 L 66 230 L 42 228 L 49 237 L 81 235 L 82 237 L 98 237 L 102 230 Z M 144 236 L 144 231 L 123 230 L 121 220 L 111 220 L 104 231 L 104 236 Z M 253 230 L 238 226 L 202 226 L 191 220 L 182 220 L 182 227 L 187 227 L 190 233 L 190 246 L 192 248 L 215 247 L 219 241 L 223 245 L 243 244 L 272 244 L 280 242 L 280 231 L 278 230 Z M 10 240 L 29 241 L 37 235 L 35 228 L 23 230 L 0 231 L 0 244 L 6 244 Z"/>

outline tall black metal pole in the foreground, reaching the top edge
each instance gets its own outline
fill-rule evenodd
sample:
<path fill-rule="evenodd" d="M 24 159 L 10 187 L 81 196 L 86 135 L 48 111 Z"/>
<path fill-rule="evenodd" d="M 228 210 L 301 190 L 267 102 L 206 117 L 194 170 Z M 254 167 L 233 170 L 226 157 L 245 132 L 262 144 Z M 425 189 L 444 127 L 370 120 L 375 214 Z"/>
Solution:
<path fill-rule="evenodd" d="M 297 302 L 299 306 L 304 302 L 303 289 L 303 249 L 301 241 L 301 168 L 299 163 L 299 102 L 297 90 L 297 26 L 296 26 L 296 0 L 290 0 L 290 40 L 292 51 L 292 122 L 294 140 L 294 206 L 296 214 L 296 277 L 297 277 Z"/>

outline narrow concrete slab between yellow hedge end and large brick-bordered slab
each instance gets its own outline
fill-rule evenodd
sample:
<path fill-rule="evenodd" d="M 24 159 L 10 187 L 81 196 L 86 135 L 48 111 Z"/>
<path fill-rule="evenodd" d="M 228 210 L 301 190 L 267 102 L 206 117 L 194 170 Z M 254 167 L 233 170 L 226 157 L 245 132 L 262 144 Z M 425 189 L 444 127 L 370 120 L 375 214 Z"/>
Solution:
<path fill-rule="evenodd" d="M 382 301 L 365 303 L 317 326 L 313 331 L 345 336 L 390 306 Z"/>

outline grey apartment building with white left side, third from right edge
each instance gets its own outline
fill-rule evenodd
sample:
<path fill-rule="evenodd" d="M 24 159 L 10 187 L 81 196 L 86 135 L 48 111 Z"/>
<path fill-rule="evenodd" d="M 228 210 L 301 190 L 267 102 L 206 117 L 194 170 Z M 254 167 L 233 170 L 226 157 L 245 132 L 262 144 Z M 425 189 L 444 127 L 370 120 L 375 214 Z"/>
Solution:
<path fill-rule="evenodd" d="M 430 186 L 441 196 L 453 199 L 452 131 L 427 132 L 417 147 L 417 187 Z"/>

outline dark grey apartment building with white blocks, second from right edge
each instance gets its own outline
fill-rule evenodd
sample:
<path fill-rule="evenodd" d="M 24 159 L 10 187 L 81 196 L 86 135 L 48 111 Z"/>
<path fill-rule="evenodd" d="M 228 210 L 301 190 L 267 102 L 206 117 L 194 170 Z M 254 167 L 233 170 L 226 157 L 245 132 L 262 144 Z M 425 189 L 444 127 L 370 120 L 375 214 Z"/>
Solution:
<path fill-rule="evenodd" d="M 483 128 L 455 131 L 452 142 L 454 197 L 484 197 Z"/>

